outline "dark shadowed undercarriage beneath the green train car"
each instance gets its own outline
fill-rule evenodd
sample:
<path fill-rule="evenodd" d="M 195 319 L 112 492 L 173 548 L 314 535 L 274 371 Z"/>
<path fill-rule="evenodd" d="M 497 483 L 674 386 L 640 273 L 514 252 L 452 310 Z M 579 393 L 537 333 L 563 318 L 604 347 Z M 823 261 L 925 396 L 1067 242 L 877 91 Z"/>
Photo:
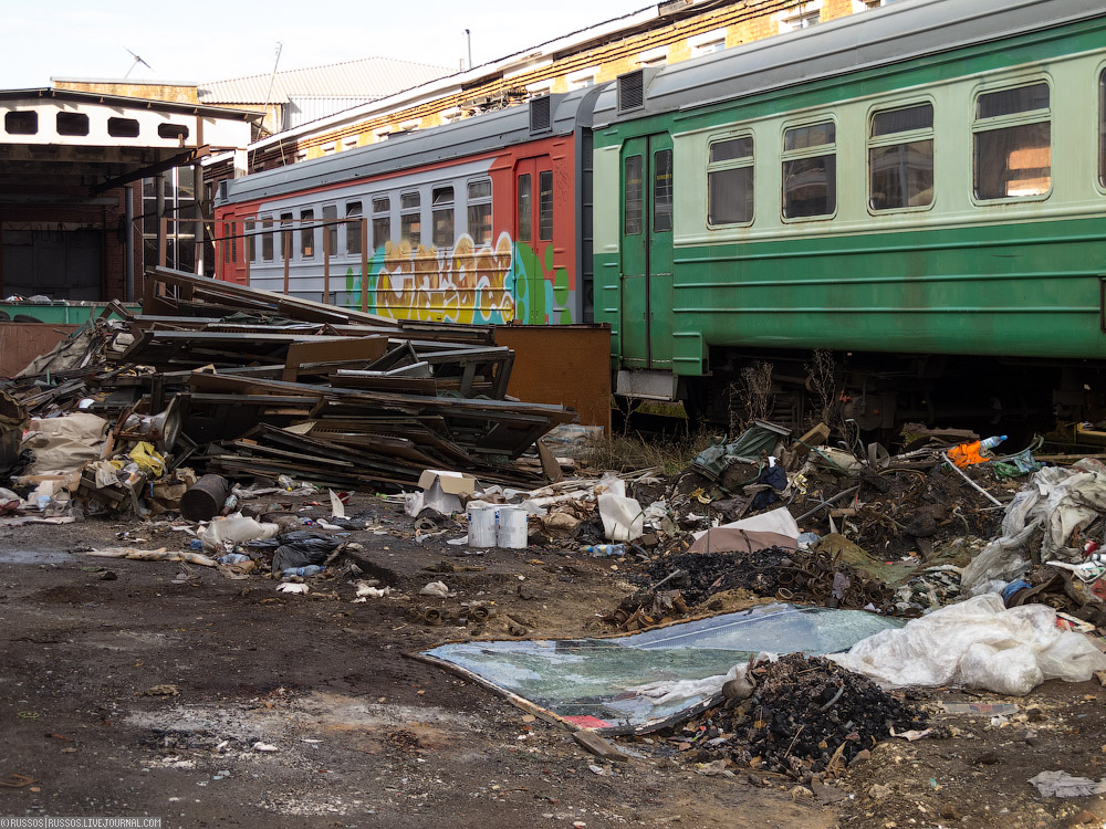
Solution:
<path fill-rule="evenodd" d="M 1106 364 L 1097 360 L 716 348 L 709 365 L 708 376 L 676 386 L 693 422 L 824 421 L 890 443 L 910 422 L 1021 441 L 1106 417 Z M 619 386 L 628 410 L 635 395 Z"/>

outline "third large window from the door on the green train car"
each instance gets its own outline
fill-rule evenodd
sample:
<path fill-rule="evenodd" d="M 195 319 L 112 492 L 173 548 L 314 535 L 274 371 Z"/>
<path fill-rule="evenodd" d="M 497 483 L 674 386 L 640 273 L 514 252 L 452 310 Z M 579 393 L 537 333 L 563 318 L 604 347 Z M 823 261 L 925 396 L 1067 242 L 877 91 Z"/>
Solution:
<path fill-rule="evenodd" d="M 897 210 L 933 203 L 933 105 L 872 116 L 868 206 Z"/>

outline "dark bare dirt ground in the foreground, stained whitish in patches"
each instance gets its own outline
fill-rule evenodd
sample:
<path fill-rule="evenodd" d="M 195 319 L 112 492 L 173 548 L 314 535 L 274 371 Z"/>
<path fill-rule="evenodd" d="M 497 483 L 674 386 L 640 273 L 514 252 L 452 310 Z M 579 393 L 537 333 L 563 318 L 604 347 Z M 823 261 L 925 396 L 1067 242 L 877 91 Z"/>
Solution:
<path fill-rule="evenodd" d="M 504 829 L 1015 829 L 1067 826 L 1083 810 L 1100 816 L 1088 825 L 1106 820 L 1099 798 L 1044 799 L 1026 783 L 1044 769 L 1104 776 L 1098 683 L 1050 683 L 1020 700 L 909 694 L 957 736 L 885 742 L 817 793 L 782 777 L 707 776 L 693 757 L 656 751 L 659 739 L 622 739 L 641 756 L 601 760 L 560 726 L 404 654 L 512 627 L 607 632 L 599 616 L 633 591 L 638 566 L 534 547 L 467 556 L 445 543 L 460 532 L 420 545 L 398 506 L 357 506 L 385 520 L 351 538 L 393 588 L 365 604 L 352 604 L 347 579 L 286 595 L 258 575 L 74 552 L 184 548 L 188 536 L 167 523 L 0 528 L 0 781 L 32 780 L 0 787 L 0 815 Z M 484 569 L 442 571 L 458 567 Z M 437 579 L 457 597 L 417 596 Z M 415 612 L 470 600 L 494 601 L 498 615 L 470 629 Z M 941 701 L 1015 702 L 1018 713 L 992 723 L 945 714 Z"/>

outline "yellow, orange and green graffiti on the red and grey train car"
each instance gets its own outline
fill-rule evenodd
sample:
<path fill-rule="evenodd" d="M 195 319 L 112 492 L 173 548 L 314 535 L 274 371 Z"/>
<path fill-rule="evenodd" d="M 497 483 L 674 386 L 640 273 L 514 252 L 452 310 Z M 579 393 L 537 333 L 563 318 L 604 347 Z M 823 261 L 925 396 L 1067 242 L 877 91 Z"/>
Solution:
<path fill-rule="evenodd" d="M 361 304 L 361 276 L 346 271 L 345 304 Z M 369 262 L 368 311 L 392 319 L 466 325 L 572 322 L 567 271 L 553 266 L 553 245 L 539 258 L 526 243 L 502 232 L 494 246 L 478 246 L 469 234 L 452 251 L 409 242 L 386 242 Z"/>

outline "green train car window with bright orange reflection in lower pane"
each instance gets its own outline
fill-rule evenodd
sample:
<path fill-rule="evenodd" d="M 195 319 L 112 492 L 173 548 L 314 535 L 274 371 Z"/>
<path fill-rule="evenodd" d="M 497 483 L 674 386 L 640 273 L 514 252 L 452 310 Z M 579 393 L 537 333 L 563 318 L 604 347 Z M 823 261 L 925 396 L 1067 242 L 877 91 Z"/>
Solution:
<path fill-rule="evenodd" d="M 1043 196 L 1052 188 L 1048 84 L 982 93 L 975 98 L 977 199 Z"/>

